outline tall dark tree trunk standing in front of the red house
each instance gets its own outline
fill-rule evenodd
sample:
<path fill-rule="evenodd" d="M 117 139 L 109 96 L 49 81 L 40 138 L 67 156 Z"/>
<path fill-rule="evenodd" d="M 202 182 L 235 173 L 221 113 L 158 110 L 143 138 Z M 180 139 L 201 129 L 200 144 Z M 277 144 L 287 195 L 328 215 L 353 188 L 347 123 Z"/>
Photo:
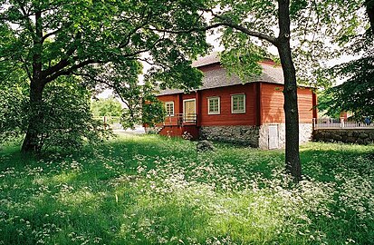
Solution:
<path fill-rule="evenodd" d="M 296 71 L 292 62 L 290 46 L 289 0 L 278 0 L 280 34 L 278 52 L 281 58 L 284 77 L 284 114 L 285 114 L 285 166 L 294 181 L 302 179 L 302 166 L 299 155 L 299 111 L 297 106 Z"/>

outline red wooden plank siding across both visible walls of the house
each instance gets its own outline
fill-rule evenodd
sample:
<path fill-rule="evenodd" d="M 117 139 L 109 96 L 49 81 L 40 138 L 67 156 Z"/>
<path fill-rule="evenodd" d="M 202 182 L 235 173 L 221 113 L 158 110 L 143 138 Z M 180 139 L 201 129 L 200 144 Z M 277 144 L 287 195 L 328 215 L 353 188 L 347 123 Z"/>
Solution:
<path fill-rule="evenodd" d="M 245 113 L 231 113 L 231 95 L 245 93 Z M 220 113 L 208 114 L 208 98 L 220 98 Z M 197 126 L 262 125 L 284 123 L 283 84 L 246 83 L 193 93 L 160 95 L 162 102 L 174 102 L 174 113 L 183 113 L 183 100 L 196 99 Z M 316 95 L 309 88 L 298 88 L 301 123 L 312 123 Z M 258 113 L 261 112 L 261 113 Z M 315 113 L 315 111 L 314 111 Z"/>

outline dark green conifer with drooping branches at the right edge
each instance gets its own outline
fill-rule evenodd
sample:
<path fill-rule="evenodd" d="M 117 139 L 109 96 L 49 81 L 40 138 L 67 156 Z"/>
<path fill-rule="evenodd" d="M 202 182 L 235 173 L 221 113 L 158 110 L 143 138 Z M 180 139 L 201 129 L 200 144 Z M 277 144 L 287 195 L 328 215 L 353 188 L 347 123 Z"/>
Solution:
<path fill-rule="evenodd" d="M 358 7 L 361 4 L 357 3 Z M 351 112 L 359 120 L 368 116 L 374 118 L 374 1 L 366 0 L 363 5 L 370 26 L 365 34 L 340 37 L 343 44 L 353 43 L 348 54 L 362 56 L 331 69 L 331 79 L 340 77 L 346 81 L 327 89 L 319 101 L 319 109 L 327 109 L 330 114 Z"/>

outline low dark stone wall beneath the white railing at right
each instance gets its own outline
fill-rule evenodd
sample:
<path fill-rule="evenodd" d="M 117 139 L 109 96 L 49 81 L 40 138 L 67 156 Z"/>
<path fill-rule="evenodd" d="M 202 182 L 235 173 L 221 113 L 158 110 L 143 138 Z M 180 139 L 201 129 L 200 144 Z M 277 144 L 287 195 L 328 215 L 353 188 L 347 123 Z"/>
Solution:
<path fill-rule="evenodd" d="M 368 144 L 374 142 L 374 129 L 318 129 L 313 141 Z"/>

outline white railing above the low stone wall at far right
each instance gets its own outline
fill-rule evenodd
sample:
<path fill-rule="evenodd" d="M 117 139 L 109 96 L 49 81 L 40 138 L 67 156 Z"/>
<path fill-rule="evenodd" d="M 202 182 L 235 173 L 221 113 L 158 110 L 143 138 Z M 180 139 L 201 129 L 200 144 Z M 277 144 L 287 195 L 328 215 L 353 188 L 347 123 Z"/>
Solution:
<path fill-rule="evenodd" d="M 313 118 L 314 129 L 367 129 L 374 128 L 374 122 L 370 120 L 363 120 L 362 122 L 355 122 L 341 118 Z"/>

